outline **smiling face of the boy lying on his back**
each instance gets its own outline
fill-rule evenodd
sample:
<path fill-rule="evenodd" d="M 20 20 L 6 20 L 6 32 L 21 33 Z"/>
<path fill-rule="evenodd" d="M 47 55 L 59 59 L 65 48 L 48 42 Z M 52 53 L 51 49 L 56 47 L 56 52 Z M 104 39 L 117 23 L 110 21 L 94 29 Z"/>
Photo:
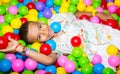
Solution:
<path fill-rule="evenodd" d="M 54 36 L 53 30 L 49 25 L 32 22 L 28 26 L 28 41 L 29 42 L 45 42 Z"/>

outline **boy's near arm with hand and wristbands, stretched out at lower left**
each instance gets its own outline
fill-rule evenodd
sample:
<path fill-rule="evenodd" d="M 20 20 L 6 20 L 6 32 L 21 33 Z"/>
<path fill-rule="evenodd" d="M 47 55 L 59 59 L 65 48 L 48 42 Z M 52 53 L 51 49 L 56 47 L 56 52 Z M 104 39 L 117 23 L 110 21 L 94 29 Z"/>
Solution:
<path fill-rule="evenodd" d="M 2 49 L 0 51 L 2 52 L 14 52 L 16 46 L 18 45 L 18 42 L 16 40 L 10 39 L 10 43 L 8 44 L 8 47 L 6 49 Z M 22 53 L 23 52 L 24 47 L 22 45 L 19 45 L 16 48 L 16 52 Z M 57 54 L 56 53 L 51 53 L 50 55 L 45 55 L 42 53 L 38 53 L 38 52 L 34 52 L 32 50 L 27 50 L 26 55 L 39 62 L 42 63 L 44 65 L 51 65 L 56 61 L 57 58 Z"/>

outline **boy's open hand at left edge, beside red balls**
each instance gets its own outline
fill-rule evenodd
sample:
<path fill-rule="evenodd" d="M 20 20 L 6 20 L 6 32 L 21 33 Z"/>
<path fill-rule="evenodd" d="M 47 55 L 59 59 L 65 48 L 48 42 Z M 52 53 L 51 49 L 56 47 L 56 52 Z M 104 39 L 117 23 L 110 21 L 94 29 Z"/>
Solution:
<path fill-rule="evenodd" d="M 2 52 L 13 52 L 16 48 L 16 46 L 19 44 L 18 41 L 14 40 L 14 39 L 9 39 L 9 43 L 6 49 L 2 49 L 0 51 Z"/>

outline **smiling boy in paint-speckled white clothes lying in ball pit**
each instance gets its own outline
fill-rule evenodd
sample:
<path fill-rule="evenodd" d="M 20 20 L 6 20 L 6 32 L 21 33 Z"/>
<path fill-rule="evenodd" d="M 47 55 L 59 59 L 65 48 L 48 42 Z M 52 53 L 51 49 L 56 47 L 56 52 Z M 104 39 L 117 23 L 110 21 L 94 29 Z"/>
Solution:
<path fill-rule="evenodd" d="M 85 12 L 77 12 L 75 16 L 78 18 L 82 14 L 91 16 L 91 13 Z M 55 52 L 48 56 L 28 48 L 25 49 L 25 47 L 13 39 L 9 39 L 8 47 L 0 51 L 13 52 L 15 50 L 19 53 L 25 53 L 37 62 L 50 65 L 56 61 L 57 53 L 71 54 L 73 46 L 70 40 L 72 37 L 78 36 L 81 38 L 83 51 L 90 60 L 92 60 L 94 54 L 99 54 L 102 57 L 102 64 L 106 67 L 111 67 L 108 64 L 109 55 L 106 49 L 109 45 L 115 46 L 117 50 L 120 49 L 120 31 L 110 26 L 91 23 L 87 20 L 76 20 L 75 16 L 72 13 L 59 13 L 52 16 L 49 25 L 53 22 L 59 22 L 61 24 L 61 31 L 59 33 L 54 33 L 49 25 L 41 22 L 29 21 L 21 26 L 19 35 L 27 43 L 44 43 L 49 39 L 53 39 L 56 42 Z M 103 20 L 113 19 L 110 15 L 104 13 L 96 13 L 96 16 Z"/>

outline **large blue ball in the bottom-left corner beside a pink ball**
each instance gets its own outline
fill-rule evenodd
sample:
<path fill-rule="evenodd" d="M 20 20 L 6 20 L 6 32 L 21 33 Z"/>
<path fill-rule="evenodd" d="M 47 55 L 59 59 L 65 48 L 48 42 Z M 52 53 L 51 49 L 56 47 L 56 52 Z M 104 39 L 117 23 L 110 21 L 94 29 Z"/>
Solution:
<path fill-rule="evenodd" d="M 12 66 L 12 63 L 7 59 L 3 59 L 2 61 L 0 61 L 1 72 L 8 72 L 11 69 L 11 66 Z"/>

